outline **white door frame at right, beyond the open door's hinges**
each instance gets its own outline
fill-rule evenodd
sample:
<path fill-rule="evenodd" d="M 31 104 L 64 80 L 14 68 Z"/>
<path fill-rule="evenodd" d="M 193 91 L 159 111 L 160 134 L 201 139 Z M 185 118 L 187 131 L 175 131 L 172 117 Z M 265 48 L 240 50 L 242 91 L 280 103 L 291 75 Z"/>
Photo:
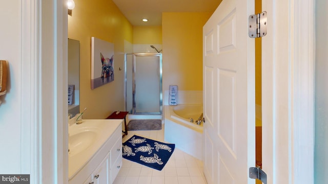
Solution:
<path fill-rule="evenodd" d="M 314 2 L 262 0 L 262 166 L 268 183 L 314 182 Z M 268 167 L 272 166 L 272 167 Z"/>

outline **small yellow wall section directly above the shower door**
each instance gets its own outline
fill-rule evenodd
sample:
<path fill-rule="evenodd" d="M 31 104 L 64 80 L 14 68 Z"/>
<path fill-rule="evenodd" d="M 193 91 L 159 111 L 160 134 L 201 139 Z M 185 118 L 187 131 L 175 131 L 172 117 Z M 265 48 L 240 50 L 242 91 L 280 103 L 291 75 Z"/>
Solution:
<path fill-rule="evenodd" d="M 133 26 L 133 44 L 162 44 L 162 27 Z"/>

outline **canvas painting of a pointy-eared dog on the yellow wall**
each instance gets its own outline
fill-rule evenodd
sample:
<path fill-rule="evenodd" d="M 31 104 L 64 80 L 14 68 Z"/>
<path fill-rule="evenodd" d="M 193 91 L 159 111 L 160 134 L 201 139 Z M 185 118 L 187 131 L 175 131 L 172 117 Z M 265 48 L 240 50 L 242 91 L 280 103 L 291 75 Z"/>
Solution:
<path fill-rule="evenodd" d="M 114 81 L 114 43 L 91 37 L 91 89 Z"/>

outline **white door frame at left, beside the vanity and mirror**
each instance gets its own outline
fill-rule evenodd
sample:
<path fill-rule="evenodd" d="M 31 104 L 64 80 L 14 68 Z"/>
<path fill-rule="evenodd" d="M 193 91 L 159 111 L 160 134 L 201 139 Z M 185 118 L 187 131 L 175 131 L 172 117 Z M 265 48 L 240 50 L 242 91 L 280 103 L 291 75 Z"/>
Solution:
<path fill-rule="evenodd" d="M 68 183 L 65 0 L 20 1 L 21 171 L 31 183 Z"/>

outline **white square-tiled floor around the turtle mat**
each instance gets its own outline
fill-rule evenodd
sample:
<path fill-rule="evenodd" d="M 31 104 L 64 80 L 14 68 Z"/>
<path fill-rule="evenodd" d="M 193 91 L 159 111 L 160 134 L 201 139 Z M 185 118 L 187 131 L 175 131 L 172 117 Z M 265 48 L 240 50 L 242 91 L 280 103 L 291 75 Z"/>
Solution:
<path fill-rule="evenodd" d="M 163 126 L 163 125 L 162 125 Z M 164 142 L 164 127 L 161 130 L 129 131 L 123 142 L 133 135 L 144 136 L 148 139 Z M 161 170 L 155 170 L 123 158 L 114 184 L 207 184 L 203 174 L 201 160 L 174 149 L 168 163 Z"/>

